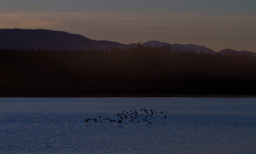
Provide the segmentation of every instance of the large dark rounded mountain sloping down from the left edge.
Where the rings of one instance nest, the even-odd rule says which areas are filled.
[[[78,34],[45,29],[0,29],[0,49],[10,50],[89,50],[120,48],[126,44],[110,41],[96,41]]]

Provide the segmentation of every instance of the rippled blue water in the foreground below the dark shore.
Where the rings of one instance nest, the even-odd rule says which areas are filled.
[[[0,153],[256,153],[256,98],[0,98],[0,120]]]

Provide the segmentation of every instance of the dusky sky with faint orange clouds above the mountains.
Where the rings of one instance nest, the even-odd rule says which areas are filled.
[[[256,0],[0,0],[0,29],[256,52]]]

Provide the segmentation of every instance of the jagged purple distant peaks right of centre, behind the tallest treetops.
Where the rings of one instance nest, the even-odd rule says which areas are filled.
[[[144,46],[149,45],[150,47],[153,47],[156,45],[160,47],[163,47],[163,46],[167,47],[168,44],[170,45],[172,52],[187,52],[188,50],[191,50],[191,51],[194,50],[197,54],[199,54],[200,52],[206,53],[206,54],[208,54],[209,52],[215,53],[215,51],[209,48],[206,48],[205,46],[198,46],[194,44],[177,44],[177,43],[170,44],[170,43],[160,42],[160,41],[148,41],[141,45],[144,45]]]

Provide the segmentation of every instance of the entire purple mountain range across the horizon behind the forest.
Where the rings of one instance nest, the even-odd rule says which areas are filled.
[[[45,30],[45,29],[0,29],[0,49],[7,50],[37,50],[38,48],[48,49],[48,50],[90,50],[92,48],[104,50],[108,48],[120,48],[125,49],[129,48],[132,45],[134,47],[137,46],[138,43],[131,44],[122,44],[118,42],[111,41],[96,41],[89,38],[86,38],[82,35],[78,34],[70,34],[63,31],[53,31],[53,30]],[[170,46],[172,52],[187,52],[188,50],[195,51],[197,54],[202,53],[216,53],[215,51],[205,47],[198,46],[194,44],[170,44],[166,42],[160,41],[148,41],[142,43],[147,47],[155,47],[156,45],[159,47]],[[225,54],[230,52],[235,52],[239,55],[242,54],[252,54],[252,56],[256,56],[256,53],[250,51],[235,51],[232,49],[224,49],[221,50],[221,54]]]

